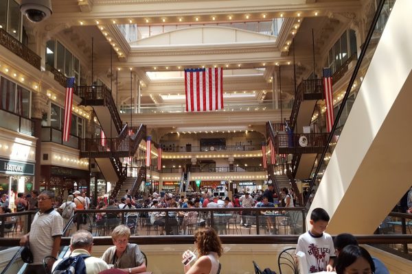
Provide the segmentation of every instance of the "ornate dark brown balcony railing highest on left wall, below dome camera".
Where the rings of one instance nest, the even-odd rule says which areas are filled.
[[[0,45],[5,47],[9,51],[12,51],[12,53],[20,56],[23,60],[25,60],[27,63],[31,64],[40,71],[41,57],[1,28]]]

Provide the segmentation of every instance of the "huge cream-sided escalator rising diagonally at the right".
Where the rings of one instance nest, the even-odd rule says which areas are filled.
[[[328,211],[331,234],[373,234],[411,185],[410,10],[412,1],[380,1],[335,119],[343,128],[334,124],[310,183],[310,209]]]

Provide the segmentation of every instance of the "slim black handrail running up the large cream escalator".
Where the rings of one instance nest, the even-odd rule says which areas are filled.
[[[378,7],[376,8],[374,19],[372,20],[371,27],[369,28],[369,32],[367,33],[367,36],[365,38],[365,42],[363,43],[363,47],[361,49],[361,54],[359,54],[358,62],[356,62],[356,66],[354,68],[354,73],[352,73],[352,77],[350,78],[349,84],[347,85],[345,95],[343,96],[342,103],[341,103],[341,108],[339,108],[338,113],[336,114],[336,118],[334,119],[335,123],[333,124],[332,129],[330,130],[330,134],[328,136],[328,140],[326,142],[325,149],[323,149],[323,152],[322,152],[320,161],[317,165],[316,171],[314,172],[312,180],[310,181],[310,186],[309,186],[308,193],[310,193],[312,191],[313,187],[314,187],[314,182],[317,179],[317,176],[318,176],[319,170],[321,169],[321,166],[323,164],[325,155],[329,150],[330,142],[332,141],[332,138],[334,136],[333,132],[336,130],[336,127],[338,126],[338,123],[336,123],[336,121],[339,121],[339,119],[341,119],[341,115],[343,113],[343,110],[345,109],[342,106],[346,104],[347,98],[350,95],[350,90],[352,89],[352,86],[355,82],[356,76],[358,75],[358,71],[359,71],[359,69],[361,69],[361,64],[363,62],[363,58],[365,57],[365,53],[367,51],[367,48],[369,47],[369,43],[370,43],[371,38],[374,34],[376,24],[378,23],[378,19],[380,17],[380,14],[382,13],[382,8],[383,8],[386,1],[388,1],[388,0],[380,0],[380,2],[378,4]],[[308,195],[308,197],[309,197],[309,195]],[[306,206],[306,204],[308,203],[308,197],[306,197],[306,199],[304,201],[304,206]]]

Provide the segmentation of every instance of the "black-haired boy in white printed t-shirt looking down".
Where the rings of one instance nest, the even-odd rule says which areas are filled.
[[[296,253],[305,253],[309,273],[333,271],[333,239],[330,234],[325,233],[329,220],[328,212],[323,208],[315,208],[310,214],[312,228],[297,240]]]

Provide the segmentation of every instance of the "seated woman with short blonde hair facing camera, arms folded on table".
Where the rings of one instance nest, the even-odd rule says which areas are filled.
[[[130,229],[126,225],[118,225],[111,234],[114,247],[104,251],[102,260],[113,264],[115,269],[124,273],[141,273],[146,271],[146,262],[137,244],[130,244]]]

